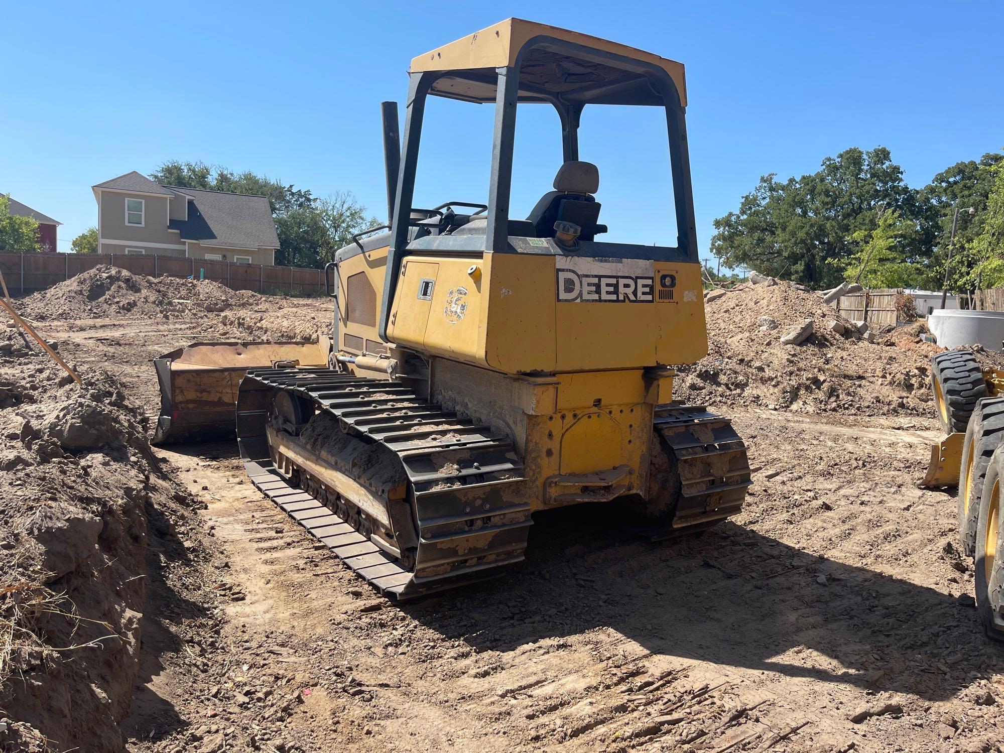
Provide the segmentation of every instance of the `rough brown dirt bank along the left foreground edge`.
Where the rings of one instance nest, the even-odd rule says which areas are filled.
[[[188,500],[118,382],[0,330],[0,750],[118,751],[148,519]],[[48,747],[46,747],[48,746]]]

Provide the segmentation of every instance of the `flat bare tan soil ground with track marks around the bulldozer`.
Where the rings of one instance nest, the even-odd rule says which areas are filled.
[[[288,303],[326,324],[325,301]],[[150,358],[227,326],[119,318],[44,331],[154,414]],[[709,357],[726,358],[712,336]],[[611,525],[612,506],[540,515],[525,563],[404,604],[244,482],[232,446],[156,450],[205,507],[173,510],[148,554],[127,748],[1001,750],[1004,653],[977,624],[955,498],[916,486],[939,435],[915,340],[775,352],[765,338],[753,359],[766,370],[741,365],[767,382],[754,378],[745,393],[759,397],[745,401],[715,400],[731,361],[702,362],[684,389],[718,369],[717,385],[688,395],[734,417],[759,469],[740,516],[653,544]],[[881,365],[852,379],[869,354]],[[831,366],[835,405],[811,382],[776,400],[775,362]]]

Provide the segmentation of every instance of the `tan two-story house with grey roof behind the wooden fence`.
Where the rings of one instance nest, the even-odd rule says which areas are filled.
[[[279,239],[264,196],[160,186],[136,171],[92,189],[98,253],[275,264]]]

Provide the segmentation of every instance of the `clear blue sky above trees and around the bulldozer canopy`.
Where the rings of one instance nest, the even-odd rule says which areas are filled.
[[[757,179],[884,145],[923,186],[1004,147],[999,2],[8,3],[0,25],[0,191],[96,222],[89,187],[169,159],[250,169],[386,210],[382,99],[412,57],[517,16],[687,66],[698,240]],[[652,110],[587,113],[610,240],[675,237],[665,127]],[[429,110],[417,204],[485,200],[491,107]],[[521,107],[513,216],[550,187],[557,118]]]

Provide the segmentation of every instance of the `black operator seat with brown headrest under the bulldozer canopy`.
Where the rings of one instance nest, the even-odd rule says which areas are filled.
[[[554,191],[544,194],[526,219],[533,223],[537,238],[553,238],[554,223],[572,222],[582,232],[579,239],[591,241],[597,233],[605,233],[605,225],[597,225],[599,202],[592,194],[599,189],[599,170],[589,162],[566,162],[554,176]]]

